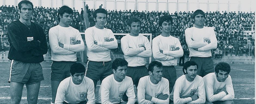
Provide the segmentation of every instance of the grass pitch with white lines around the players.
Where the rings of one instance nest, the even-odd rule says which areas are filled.
[[[38,104],[50,104],[51,102],[51,85],[50,72],[51,63],[41,63],[43,68],[44,80],[38,95]],[[85,65],[85,63],[84,63]],[[231,78],[233,82],[236,104],[254,104],[255,103],[255,71],[254,65],[249,64],[231,64]],[[177,76],[183,74],[182,67],[176,66]],[[10,63],[0,63],[0,104],[10,103],[10,83],[8,83]],[[100,85],[100,83],[98,83]],[[96,87],[97,95],[99,86]],[[21,104],[27,104],[26,87],[23,88]]]

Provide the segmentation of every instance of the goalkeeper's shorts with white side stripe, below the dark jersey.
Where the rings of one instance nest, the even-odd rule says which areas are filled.
[[[8,82],[20,82],[33,84],[44,80],[43,70],[40,63],[24,63],[12,60]]]

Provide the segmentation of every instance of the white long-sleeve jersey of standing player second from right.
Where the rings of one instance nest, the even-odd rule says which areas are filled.
[[[177,47],[179,47],[179,50],[173,51]],[[156,61],[161,62],[163,66],[176,66],[177,59],[184,54],[179,39],[171,35],[168,37],[162,35],[156,36],[152,40],[152,53]]]

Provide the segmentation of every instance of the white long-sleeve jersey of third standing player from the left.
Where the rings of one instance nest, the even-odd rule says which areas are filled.
[[[117,39],[111,29],[99,29],[93,26],[87,28],[84,35],[88,60],[96,62],[111,61],[109,49],[116,49],[118,46]],[[107,42],[111,38],[114,41]],[[94,42],[97,42],[97,45]]]

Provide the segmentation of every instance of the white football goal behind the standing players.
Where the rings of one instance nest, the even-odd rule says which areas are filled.
[[[83,40],[85,40],[84,32],[80,32],[80,34],[81,34]],[[114,33],[114,36],[115,36],[115,38],[117,39],[117,42],[118,42],[118,47],[117,47],[117,49],[111,49],[110,50],[111,59],[114,60],[116,58],[123,58],[124,54],[123,54],[123,51],[121,50],[120,40],[125,35],[129,35],[129,33]],[[152,33],[139,33],[139,35],[146,36],[148,38],[149,42],[150,42],[150,45],[152,46]],[[85,49],[84,52],[81,52],[80,57],[81,57],[81,61],[84,62],[84,58],[87,58],[86,49]],[[147,58],[147,65],[151,62],[151,59],[152,59],[151,57]]]

